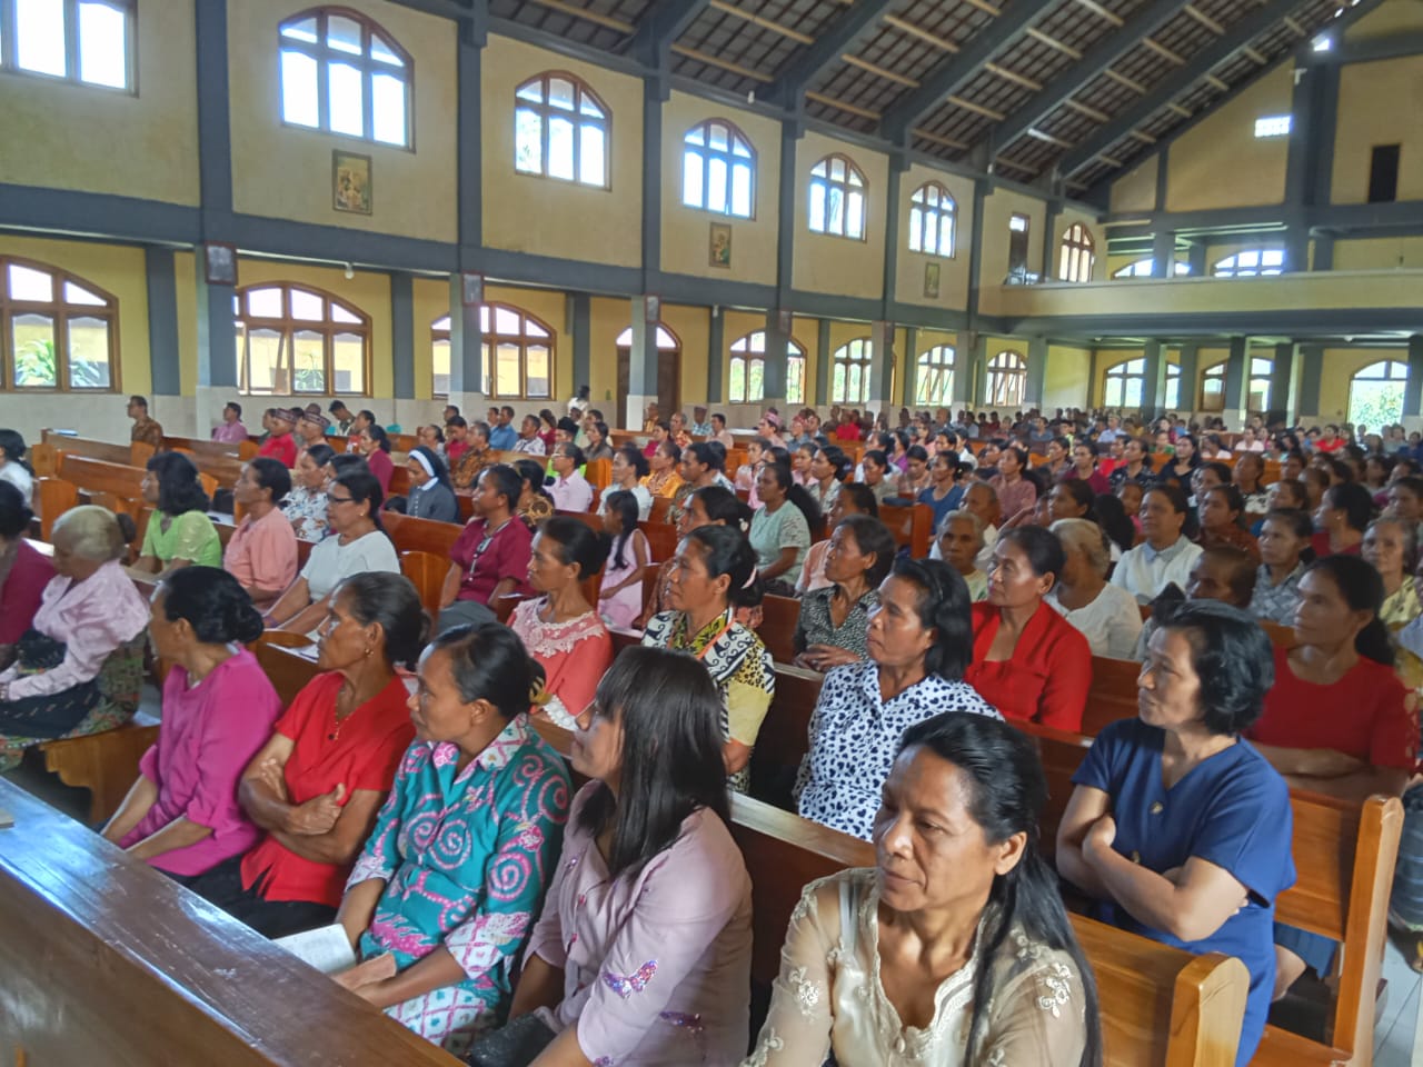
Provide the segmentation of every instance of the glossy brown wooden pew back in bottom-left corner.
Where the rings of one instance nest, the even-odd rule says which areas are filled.
[[[0,808],[6,1064],[458,1063],[17,785]]]

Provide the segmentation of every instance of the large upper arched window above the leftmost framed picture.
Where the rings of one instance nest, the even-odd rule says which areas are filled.
[[[282,121],[411,148],[414,63],[349,7],[314,7],[277,28]]]

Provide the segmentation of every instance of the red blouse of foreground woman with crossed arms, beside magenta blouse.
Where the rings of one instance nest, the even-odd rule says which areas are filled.
[[[342,681],[336,671],[317,674],[276,721],[276,733],[296,743],[282,768],[292,804],[305,804],[339,784],[346,787],[347,802],[357,790],[384,797],[396,781],[400,757],[416,740],[404,681],[391,679],[337,726],[336,694]],[[339,908],[349,874],[346,865],[303,859],[270,834],[242,856],[242,888],[250,889],[260,881],[266,901],[310,901]]]

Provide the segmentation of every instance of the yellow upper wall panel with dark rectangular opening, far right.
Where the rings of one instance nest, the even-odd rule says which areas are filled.
[[[1366,203],[1375,145],[1402,145],[1399,199],[1423,198],[1423,125],[1416,102],[1423,94],[1423,55],[1352,63],[1339,73],[1339,125],[1335,131],[1335,203]]]

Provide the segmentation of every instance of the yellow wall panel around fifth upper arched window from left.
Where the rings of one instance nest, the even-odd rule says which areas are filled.
[[[831,152],[848,156],[865,175],[865,240],[810,230],[810,171]],[[879,152],[814,132],[795,142],[795,255],[791,276],[797,289],[871,299],[884,293],[888,188],[889,159]]]

